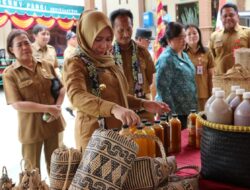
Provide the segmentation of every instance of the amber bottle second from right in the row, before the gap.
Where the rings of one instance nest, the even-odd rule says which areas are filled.
[[[168,123],[168,116],[162,115],[160,125],[164,128],[164,149],[168,154],[170,153],[170,125]]]

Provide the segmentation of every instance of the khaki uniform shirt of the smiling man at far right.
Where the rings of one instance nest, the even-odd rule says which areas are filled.
[[[209,49],[214,57],[215,74],[226,73],[234,65],[234,50],[241,47],[250,47],[249,28],[236,25],[233,33],[222,29],[211,35]]]

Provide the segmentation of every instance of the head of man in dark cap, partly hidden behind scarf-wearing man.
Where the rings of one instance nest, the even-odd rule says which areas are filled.
[[[135,40],[137,44],[148,49],[151,40],[154,40],[152,37],[152,31],[146,28],[137,28],[135,33]]]

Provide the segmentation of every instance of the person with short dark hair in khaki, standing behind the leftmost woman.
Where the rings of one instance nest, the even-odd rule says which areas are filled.
[[[46,26],[37,24],[32,30],[35,42],[32,44],[33,56],[39,61],[50,63],[56,74],[60,77],[59,64],[57,61],[56,50],[49,45],[50,32]]]

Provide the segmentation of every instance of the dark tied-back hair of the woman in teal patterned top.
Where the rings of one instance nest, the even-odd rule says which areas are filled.
[[[178,37],[183,29],[184,27],[181,23],[169,22],[168,25],[166,26],[166,31],[164,33],[164,36],[160,39],[161,46],[166,47],[168,45],[167,41]]]

